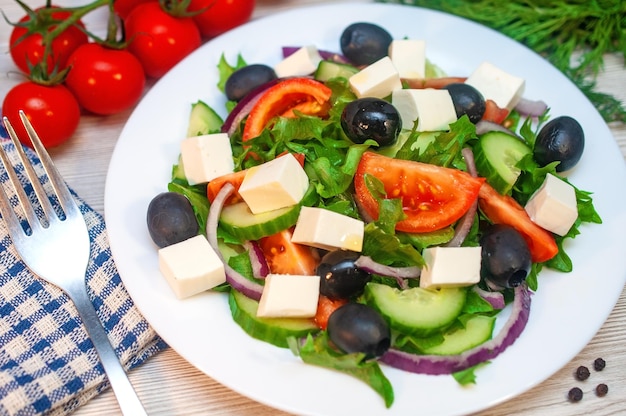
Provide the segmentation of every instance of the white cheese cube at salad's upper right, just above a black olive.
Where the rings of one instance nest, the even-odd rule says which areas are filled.
[[[465,80],[485,98],[501,108],[512,110],[524,94],[523,78],[509,74],[492,63],[483,62]]]

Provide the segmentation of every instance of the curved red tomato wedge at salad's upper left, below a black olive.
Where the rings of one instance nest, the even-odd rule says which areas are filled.
[[[294,117],[294,109],[307,115],[326,115],[331,94],[330,88],[311,78],[287,78],[279,82],[268,88],[250,110],[242,140],[259,136],[274,117]]]

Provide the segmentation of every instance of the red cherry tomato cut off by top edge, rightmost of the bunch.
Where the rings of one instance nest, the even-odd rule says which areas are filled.
[[[202,36],[213,38],[250,20],[255,0],[191,0],[187,10],[204,12],[193,17]]]

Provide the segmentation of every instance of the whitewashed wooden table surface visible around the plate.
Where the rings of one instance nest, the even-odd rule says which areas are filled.
[[[332,1],[313,0],[257,0],[253,18],[312,3]],[[29,0],[31,6],[44,2]],[[62,5],[84,4],[81,0],[55,2]],[[13,0],[0,0],[0,9],[12,20],[17,20],[21,9]],[[88,24],[102,27],[103,16],[98,12],[88,16]],[[22,81],[7,52],[10,27],[0,20],[0,97],[12,85]],[[605,67],[598,78],[598,87],[626,102],[626,69],[623,58],[606,56]],[[111,153],[128,119],[130,111],[109,117],[84,115],[74,137],[65,145],[51,151],[59,170],[70,186],[95,210],[104,210],[104,184]],[[626,126],[609,126],[626,158]],[[618,192],[626,190],[619,184]],[[625,230],[626,231],[626,230]],[[626,253],[625,253],[626,254]],[[578,403],[567,400],[575,382],[573,372],[579,365],[590,366],[602,357],[607,367],[601,377],[584,384],[585,398]],[[514,377],[514,375],[511,375]],[[169,349],[149,359],[130,373],[132,383],[151,415],[223,414],[223,415],[278,415],[280,411],[252,401],[220,385],[201,373],[175,351]],[[593,394],[595,385],[604,382],[609,393],[603,398]],[[481,415],[618,415],[626,414],[626,291],[612,314],[591,342],[548,380],[521,396],[483,411]],[[119,414],[111,391],[93,399],[76,412],[77,415]]]

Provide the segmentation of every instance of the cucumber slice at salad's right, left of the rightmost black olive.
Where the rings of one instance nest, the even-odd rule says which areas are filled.
[[[499,131],[485,133],[474,146],[478,174],[501,194],[510,193],[520,175],[517,163],[532,149],[521,139]]]

